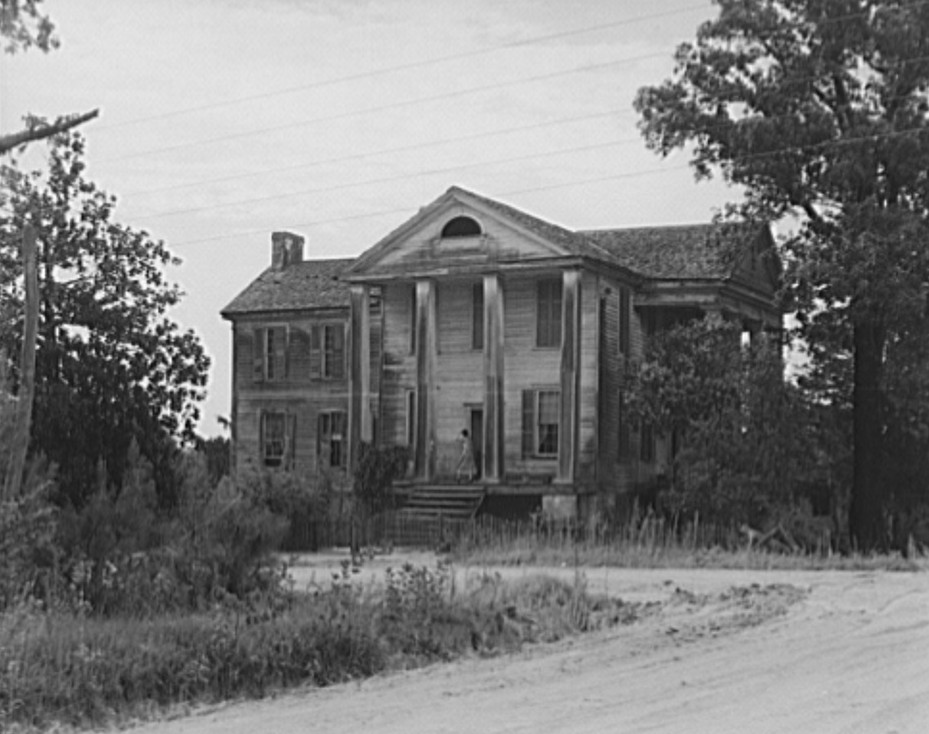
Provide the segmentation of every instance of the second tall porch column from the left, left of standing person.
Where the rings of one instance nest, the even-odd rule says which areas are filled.
[[[416,446],[417,479],[430,480],[435,473],[435,283],[416,281]]]

